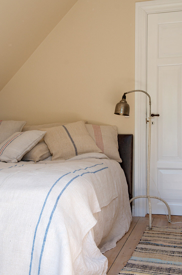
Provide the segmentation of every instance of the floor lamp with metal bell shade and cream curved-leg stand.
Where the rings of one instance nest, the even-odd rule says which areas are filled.
[[[158,199],[164,202],[166,204],[167,209],[168,209],[168,215],[169,215],[169,221],[171,221],[171,213],[170,213],[170,208],[167,202],[159,197],[156,196],[150,196],[149,194],[149,187],[150,187],[150,146],[151,146],[151,119],[153,116],[159,116],[159,115],[154,115],[151,114],[151,99],[150,95],[147,94],[147,92],[142,91],[142,90],[133,90],[129,91],[127,93],[124,93],[122,100],[116,104],[115,112],[114,114],[116,115],[122,115],[122,116],[129,116],[130,112],[130,106],[128,105],[126,101],[126,94],[132,93],[132,92],[143,92],[149,97],[149,106],[150,106],[150,114],[149,114],[149,120],[146,119],[146,122],[149,122],[149,142],[148,142],[148,160],[147,160],[147,195],[141,195],[141,196],[136,196],[133,197],[130,202],[132,202],[135,199],[138,198],[147,198],[149,202],[149,229],[152,229],[152,205],[151,205],[151,198],[152,199]]]

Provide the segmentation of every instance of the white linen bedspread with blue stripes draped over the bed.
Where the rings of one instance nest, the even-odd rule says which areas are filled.
[[[106,274],[131,211],[120,165],[97,157],[0,162],[0,274]]]

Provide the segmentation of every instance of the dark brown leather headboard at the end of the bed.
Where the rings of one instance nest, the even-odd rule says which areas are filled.
[[[118,134],[118,147],[119,155],[122,159],[120,163],[121,168],[124,170],[129,198],[132,198],[132,171],[133,171],[133,135]]]

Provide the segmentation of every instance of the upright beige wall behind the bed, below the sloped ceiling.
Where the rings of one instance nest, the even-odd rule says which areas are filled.
[[[88,120],[134,133],[114,115],[134,89],[135,0],[79,0],[1,91],[0,119],[27,124]]]

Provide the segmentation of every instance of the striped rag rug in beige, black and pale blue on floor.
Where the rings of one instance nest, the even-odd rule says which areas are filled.
[[[182,274],[182,227],[147,226],[119,274]]]

